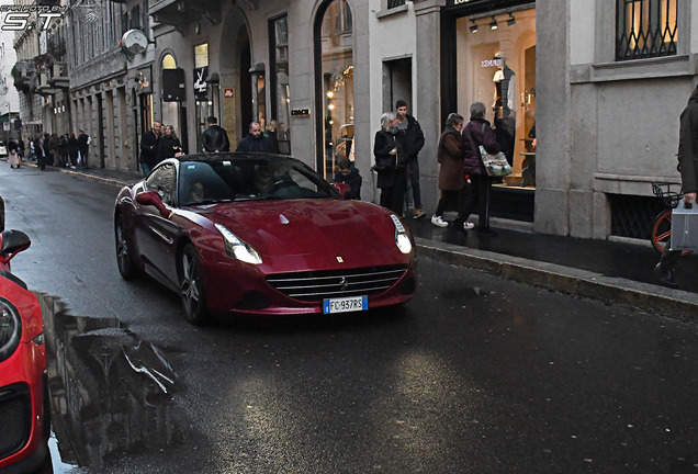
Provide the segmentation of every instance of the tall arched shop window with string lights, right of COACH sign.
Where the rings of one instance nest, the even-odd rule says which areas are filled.
[[[331,179],[338,159],[353,160],[353,22],[346,0],[328,2],[322,14],[316,32],[316,55],[320,63],[318,90],[323,91],[318,101],[323,144],[318,170]]]

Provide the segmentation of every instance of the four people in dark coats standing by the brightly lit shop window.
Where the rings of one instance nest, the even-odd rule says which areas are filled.
[[[492,180],[487,177],[480,156],[480,146],[491,154],[500,151],[489,122],[485,120],[485,105],[474,102],[470,108],[470,122],[465,125],[462,115],[452,113],[446,121],[446,127],[439,139],[437,158],[439,189],[441,198],[431,223],[437,227],[448,227],[443,212],[458,207],[461,193],[464,200],[458,210],[453,225],[469,230],[475,225],[468,221],[477,210],[479,232],[492,234],[488,222],[488,200]],[[398,100],[395,112],[385,112],[381,116],[381,129],[375,134],[373,169],[378,172],[378,187],[381,189],[380,203],[398,215],[404,214],[407,184],[412,185],[415,212],[414,218],[425,215],[419,189],[418,154],[425,143],[419,123],[407,114],[407,103]]]

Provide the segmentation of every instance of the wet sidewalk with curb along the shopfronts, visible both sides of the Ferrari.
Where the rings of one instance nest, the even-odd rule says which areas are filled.
[[[30,166],[35,166],[30,163]],[[143,178],[138,172],[108,169],[47,167],[123,185]],[[603,301],[637,307],[662,316],[698,320],[698,256],[682,258],[676,271],[680,290],[657,283],[653,269],[660,255],[644,242],[592,240],[497,228],[507,225],[493,221],[496,235],[482,236],[451,227],[431,225],[429,216],[408,225],[421,258],[475,268],[503,278]],[[515,224],[515,223],[511,223]]]

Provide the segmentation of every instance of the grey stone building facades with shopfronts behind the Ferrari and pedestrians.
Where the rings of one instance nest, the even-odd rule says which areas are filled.
[[[327,179],[337,159],[354,160],[362,198],[378,202],[373,136],[404,99],[426,136],[427,212],[444,120],[475,101],[514,169],[493,188],[504,225],[646,238],[661,206],[651,183],[678,182],[698,0],[149,0],[104,2],[99,27],[78,3],[72,121],[97,139],[100,166],[137,169],[154,120],[190,153],[209,115],[234,147],[251,121],[274,121],[282,150]],[[148,43],[126,54],[119,40],[133,29]]]

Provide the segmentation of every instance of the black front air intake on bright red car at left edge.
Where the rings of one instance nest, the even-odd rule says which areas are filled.
[[[20,451],[32,429],[32,405],[29,387],[13,384],[0,388],[0,459]]]

